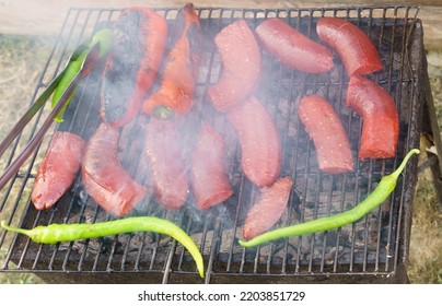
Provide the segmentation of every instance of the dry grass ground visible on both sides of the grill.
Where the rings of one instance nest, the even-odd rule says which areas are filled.
[[[46,38],[0,35],[0,139],[28,107],[40,71],[50,52],[51,42]],[[441,56],[442,60],[442,56]],[[437,114],[442,127],[442,64],[431,67],[431,85]],[[4,107],[10,106],[10,107]],[[424,155],[424,154],[421,154]],[[0,164],[1,169],[3,165]],[[28,191],[26,191],[28,192]],[[9,205],[0,212],[0,220],[10,215]],[[5,250],[0,249],[0,268]],[[11,267],[13,268],[13,267]],[[429,169],[419,174],[414,201],[414,224],[409,250],[409,280],[411,283],[442,283],[442,210],[438,208]],[[43,283],[32,273],[0,273],[1,283]]]

